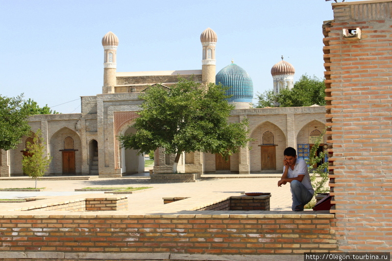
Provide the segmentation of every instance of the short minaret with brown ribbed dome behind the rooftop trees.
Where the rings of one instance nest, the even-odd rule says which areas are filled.
[[[290,63],[282,61],[275,64],[271,68],[271,74],[273,78],[273,92],[279,93],[282,88],[293,88],[294,87],[294,66]]]

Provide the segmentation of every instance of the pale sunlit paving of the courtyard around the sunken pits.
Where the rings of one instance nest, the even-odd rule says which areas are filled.
[[[205,174],[203,180],[194,183],[154,184],[148,174],[125,176],[122,178],[99,178],[98,176],[78,176],[86,180],[44,180],[38,181],[42,192],[0,192],[1,199],[50,198],[61,196],[62,200],[82,194],[102,194],[103,192],[75,192],[86,187],[152,187],[144,192],[128,195],[128,211],[131,214],[175,213],[192,210],[193,206],[214,203],[227,196],[240,196],[242,192],[270,192],[270,211],[291,211],[291,193],[288,185],[277,187],[280,174]],[[64,178],[64,177],[63,177]],[[70,178],[75,178],[72,176]],[[87,180],[88,178],[88,180]],[[34,187],[30,177],[0,178],[0,189]],[[109,194],[110,195],[110,194]],[[163,197],[189,197],[170,204],[163,204]],[[3,207],[7,208],[2,203]],[[13,203],[15,204],[15,203]],[[18,204],[18,203],[16,203]]]

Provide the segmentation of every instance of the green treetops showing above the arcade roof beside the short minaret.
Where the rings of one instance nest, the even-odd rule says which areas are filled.
[[[324,106],[326,104],[324,80],[316,76],[309,77],[306,74],[295,82],[292,89],[282,88],[278,94],[272,90],[266,90],[257,96],[259,100],[256,108],[302,107],[315,104]]]

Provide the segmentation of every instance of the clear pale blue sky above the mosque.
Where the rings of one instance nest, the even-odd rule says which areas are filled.
[[[281,55],[323,78],[325,0],[0,0],[0,94],[79,113],[80,96],[102,92],[102,37],[119,38],[117,71],[201,69],[200,34],[218,35],[217,72],[234,63],[254,92],[272,88]],[[71,102],[72,101],[72,102]],[[63,105],[60,105],[63,104]]]

